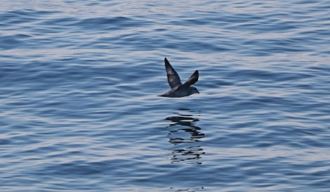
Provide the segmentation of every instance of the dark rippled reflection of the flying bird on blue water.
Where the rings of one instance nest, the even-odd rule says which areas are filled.
[[[180,109],[189,111],[191,110]],[[201,128],[196,126],[199,121],[197,117],[187,114],[176,113],[175,116],[166,117],[171,123],[169,129],[169,143],[173,144],[173,150],[169,153],[171,155],[171,162],[187,162],[187,164],[202,164],[200,158],[204,154],[200,142],[204,137]]]

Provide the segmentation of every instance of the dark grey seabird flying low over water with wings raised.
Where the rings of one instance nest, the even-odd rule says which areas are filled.
[[[167,58],[165,58],[164,60],[165,60],[167,81],[169,82],[171,90],[159,96],[184,97],[184,96],[190,96],[192,94],[199,94],[199,91],[196,89],[196,87],[190,86],[198,81],[198,76],[199,76],[198,70],[195,70],[192,76],[190,76],[189,79],[187,79],[187,81],[184,84],[182,84],[178,73],[171,66],[169,60],[167,60]]]

